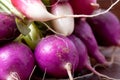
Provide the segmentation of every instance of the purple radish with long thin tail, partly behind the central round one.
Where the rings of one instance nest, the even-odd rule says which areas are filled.
[[[82,40],[80,40],[80,38],[76,37],[75,35],[70,35],[70,36],[68,36],[68,38],[73,41],[73,43],[75,44],[75,46],[77,48],[78,54],[79,54],[79,65],[76,70],[77,72],[80,72],[83,68],[86,68],[98,76],[112,79],[106,75],[103,75],[103,74],[97,72],[94,68],[92,68],[91,63],[89,61],[87,48],[84,45],[84,43],[82,42]]]

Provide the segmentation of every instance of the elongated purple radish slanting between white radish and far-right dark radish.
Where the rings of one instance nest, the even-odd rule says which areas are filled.
[[[77,20],[74,34],[84,42],[91,57],[95,58],[99,63],[106,63],[105,57],[99,51],[92,29],[85,20]]]

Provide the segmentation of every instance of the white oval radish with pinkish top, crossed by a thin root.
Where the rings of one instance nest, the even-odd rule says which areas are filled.
[[[56,4],[54,7],[52,7],[51,12],[56,16],[62,16],[67,14],[73,15],[72,8],[67,2]],[[53,29],[64,36],[68,36],[73,33],[74,18],[60,18],[57,20],[53,20],[52,24]]]

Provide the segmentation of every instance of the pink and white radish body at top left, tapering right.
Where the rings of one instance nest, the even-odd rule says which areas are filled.
[[[41,0],[11,0],[13,6],[27,18],[35,21],[48,21],[56,18],[47,11]]]

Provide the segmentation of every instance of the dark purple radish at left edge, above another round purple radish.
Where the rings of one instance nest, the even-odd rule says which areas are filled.
[[[0,43],[15,39],[19,35],[15,17],[7,13],[0,13]]]

